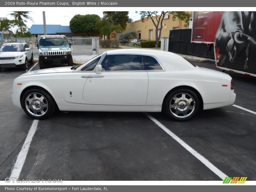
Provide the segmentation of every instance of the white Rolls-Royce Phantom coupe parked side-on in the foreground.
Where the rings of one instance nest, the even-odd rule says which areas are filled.
[[[13,104],[35,119],[60,111],[161,112],[188,120],[200,109],[232,105],[232,78],[177,54],[104,52],[81,66],[30,71],[14,80]]]

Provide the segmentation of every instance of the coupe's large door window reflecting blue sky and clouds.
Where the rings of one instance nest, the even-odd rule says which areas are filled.
[[[102,62],[106,71],[144,70],[143,55],[107,55]]]

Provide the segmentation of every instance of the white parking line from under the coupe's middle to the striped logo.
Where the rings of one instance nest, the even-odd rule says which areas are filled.
[[[220,171],[217,167],[215,167],[209,160],[207,160],[204,156],[202,156],[200,153],[198,153],[195,149],[191,148],[187,143],[185,143],[183,140],[181,140],[177,135],[175,135],[173,132],[171,132],[169,129],[167,129],[163,124],[161,124],[159,121],[157,121],[153,116],[149,115],[148,113],[144,113],[146,116],[148,116],[149,119],[151,119],[153,122],[155,122],[159,127],[161,127],[167,134],[169,134],[174,140],[176,140],[180,145],[182,145],[185,149],[187,149],[193,156],[195,156],[199,161],[201,161],[206,167],[208,167],[212,172],[214,172],[216,175],[218,175],[222,180],[224,180],[226,177],[228,177],[225,173]]]

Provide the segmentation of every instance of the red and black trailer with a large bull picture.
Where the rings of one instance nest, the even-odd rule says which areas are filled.
[[[256,76],[256,12],[193,12],[191,43],[212,44],[217,68]]]

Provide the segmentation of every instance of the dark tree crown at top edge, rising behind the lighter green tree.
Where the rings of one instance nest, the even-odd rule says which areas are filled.
[[[109,20],[113,25],[120,25],[125,29],[129,22],[129,11],[104,11],[104,19]]]

